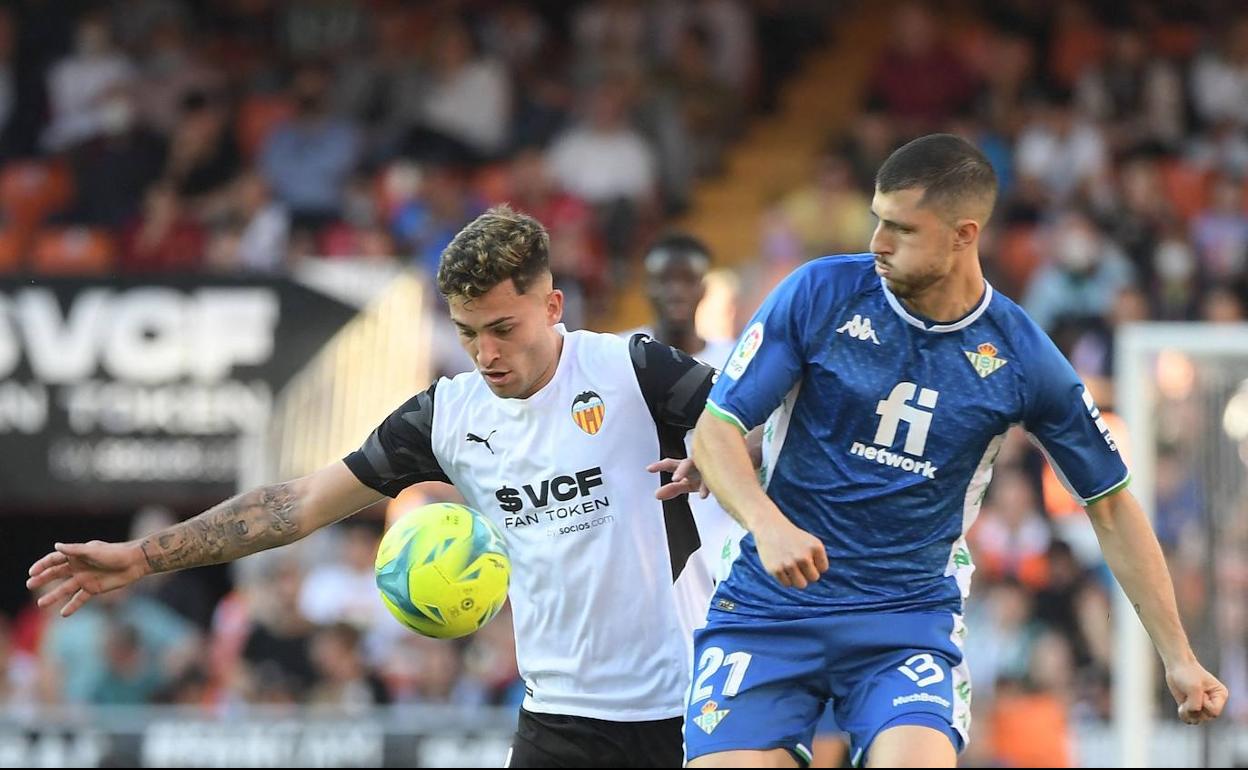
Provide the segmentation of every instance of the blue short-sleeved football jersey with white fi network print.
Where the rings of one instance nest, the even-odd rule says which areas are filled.
[[[965,534],[1016,423],[1085,504],[1128,478],[1073,368],[1017,305],[985,283],[966,317],[925,319],[871,255],[815,260],[776,287],[706,408],[741,431],[766,422],[768,495],[830,563],[785,588],[746,535],[713,612],[961,612]]]

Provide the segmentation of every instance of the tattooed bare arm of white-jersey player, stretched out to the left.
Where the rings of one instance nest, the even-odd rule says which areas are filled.
[[[232,562],[293,543],[381,497],[337,462],[292,482],[245,492],[142,540],[57,543],[30,567],[26,588],[64,579],[40,597],[39,605],[64,604],[61,615],[69,616],[91,597],[151,573]]]

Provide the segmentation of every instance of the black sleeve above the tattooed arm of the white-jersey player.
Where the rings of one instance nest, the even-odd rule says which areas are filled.
[[[433,454],[433,389],[437,384],[394,409],[364,446],[342,459],[366,487],[394,497],[419,482],[451,482]]]

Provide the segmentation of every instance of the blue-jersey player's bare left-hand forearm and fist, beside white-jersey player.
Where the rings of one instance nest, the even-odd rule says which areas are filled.
[[[745,436],[735,424],[703,412],[694,431],[694,457],[719,504],[754,533],[763,567],[781,585],[806,588],[827,570],[819,538],[794,525],[763,492]]]

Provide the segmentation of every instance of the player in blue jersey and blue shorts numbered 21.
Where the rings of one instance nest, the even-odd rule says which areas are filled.
[[[694,636],[689,766],[810,760],[822,704],[855,764],[955,766],[971,681],[965,535],[1021,424],[1087,507],[1187,721],[1226,688],[1192,654],[1104,421],[1052,341],[983,280],[983,155],[921,137],[881,166],[871,252],[815,260],[746,326],[696,429],[750,533]],[[744,436],[764,426],[761,484]]]

